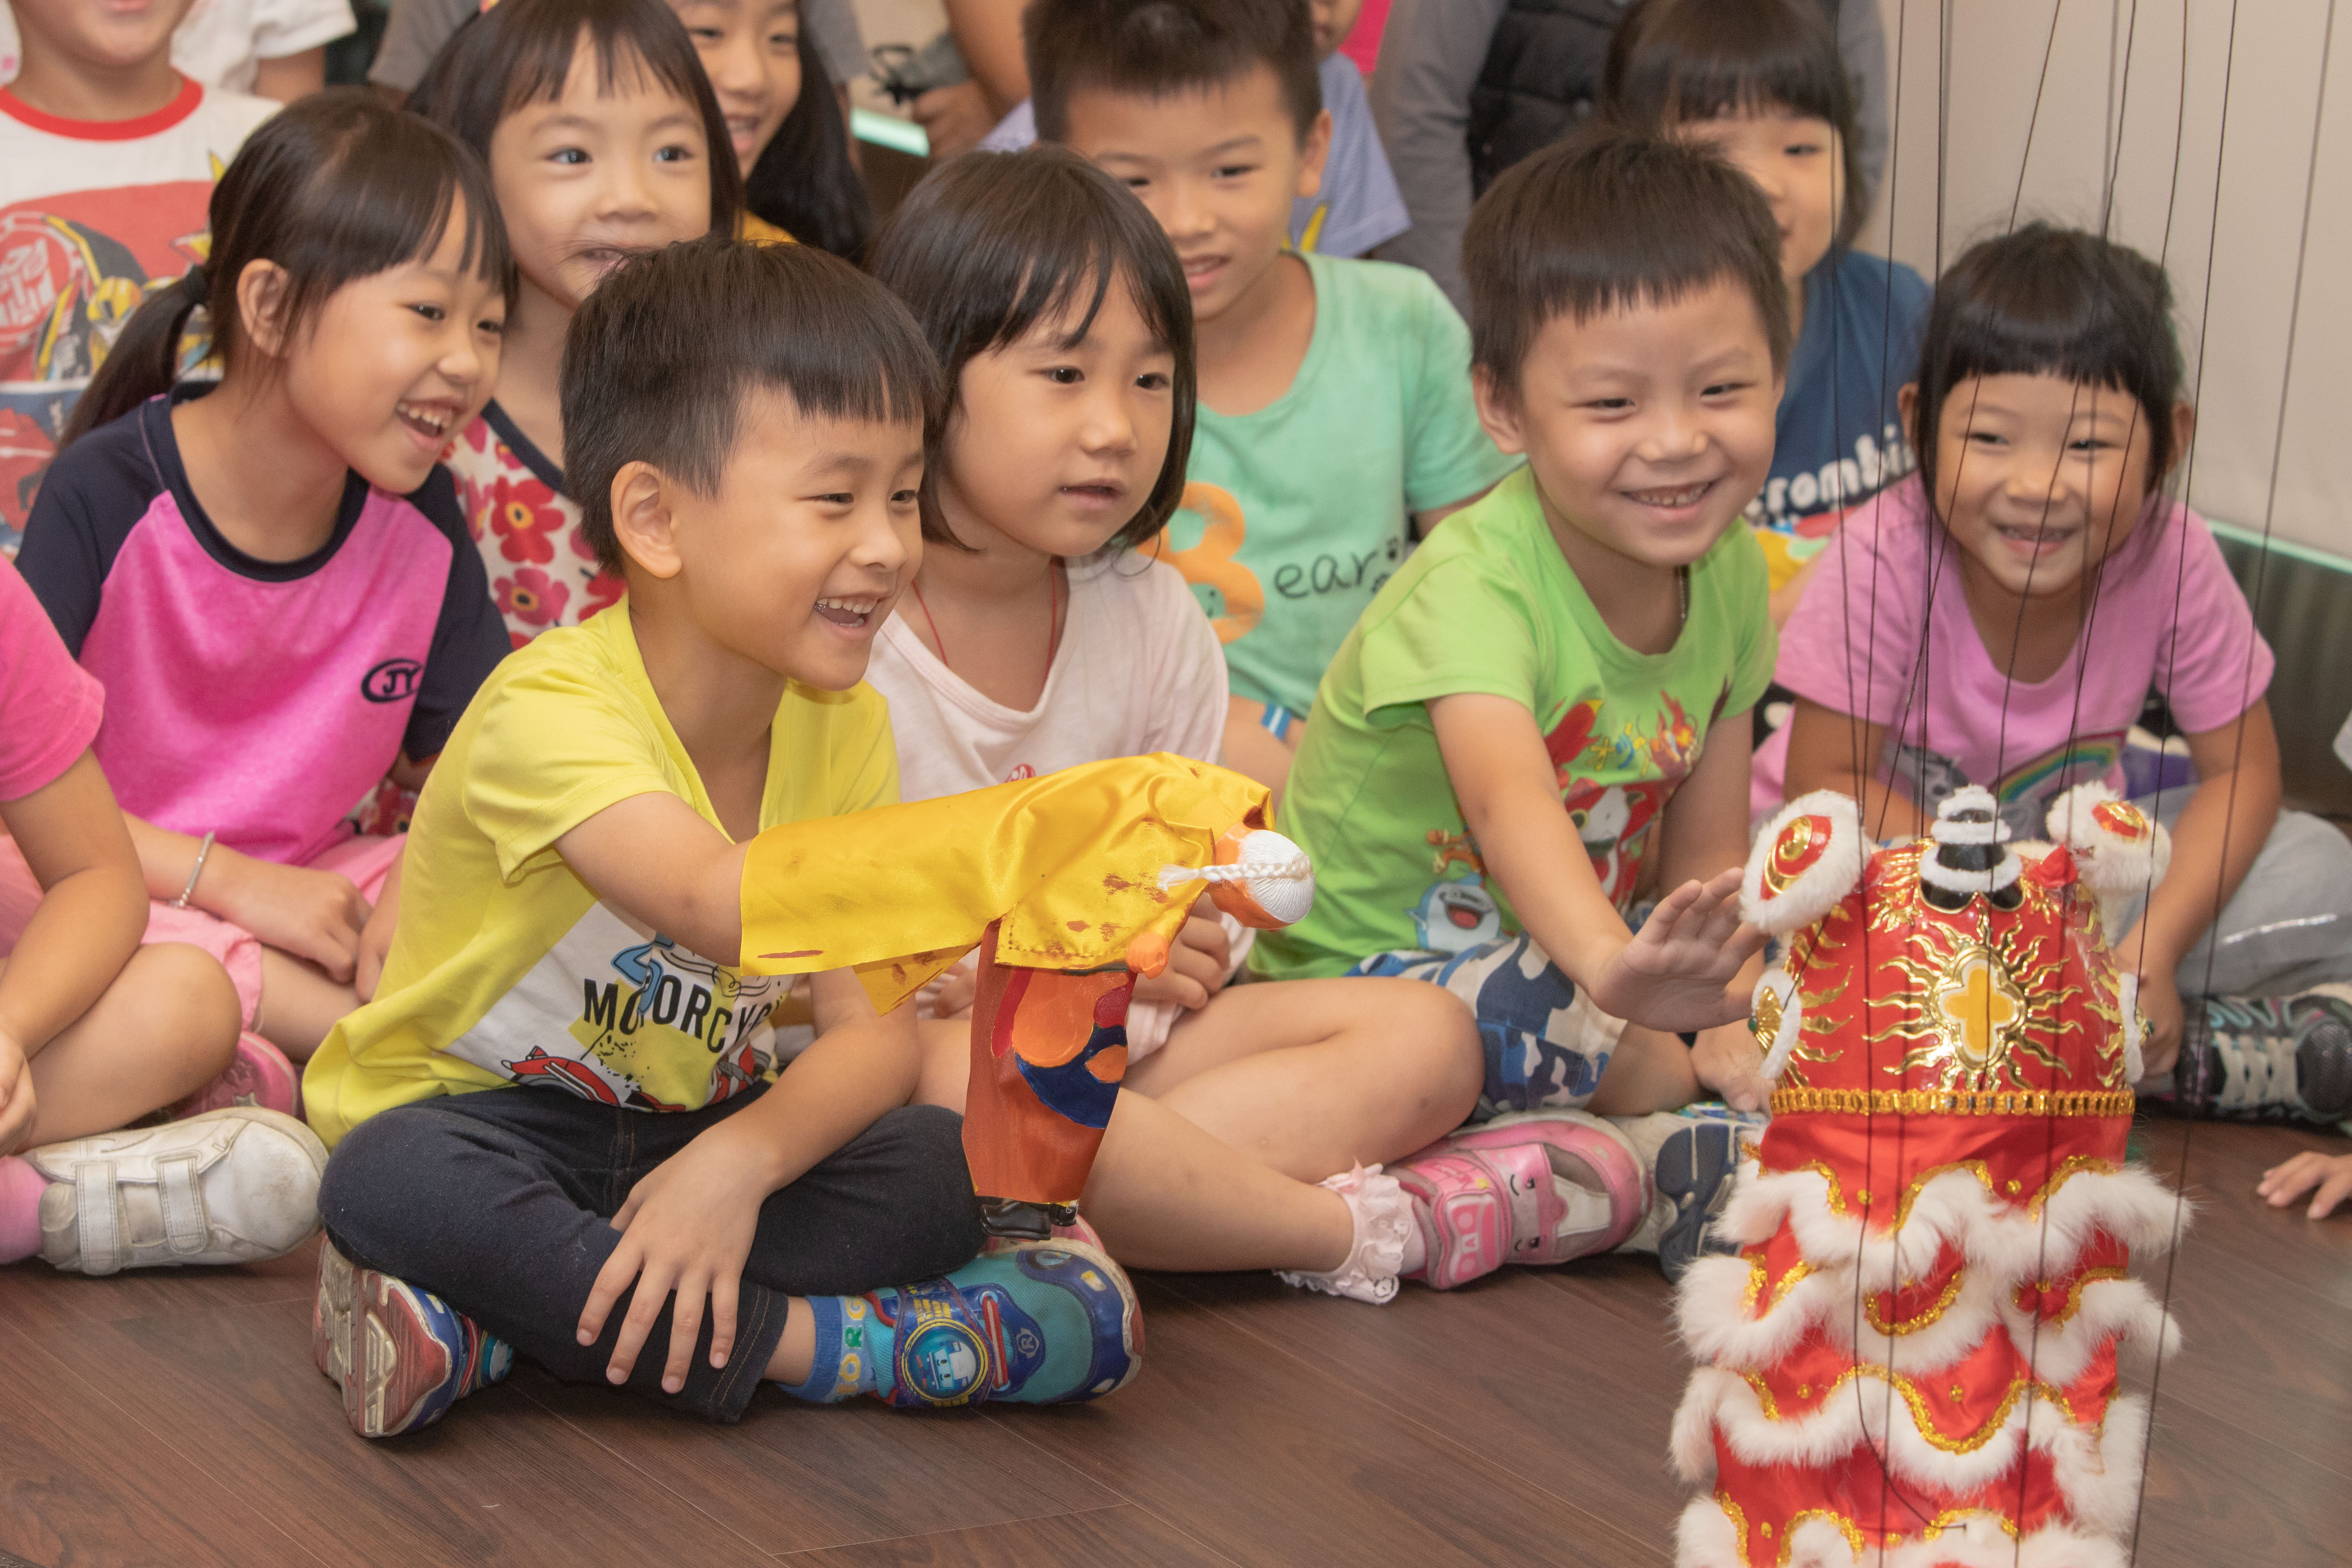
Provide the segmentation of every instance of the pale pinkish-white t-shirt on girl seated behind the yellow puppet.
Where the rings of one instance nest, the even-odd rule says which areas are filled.
[[[901,611],[922,616],[913,595]],[[882,623],[866,668],[866,682],[889,698],[901,799],[985,790],[1105,757],[1218,757],[1225,654],[1190,585],[1164,562],[1131,552],[1070,562],[1061,646],[1028,712],[983,696],[938,663],[906,614]],[[1223,919],[1240,966],[1251,933]],[[1167,1044],[1181,1011],[1171,1001],[1134,1004],[1129,1060]]]

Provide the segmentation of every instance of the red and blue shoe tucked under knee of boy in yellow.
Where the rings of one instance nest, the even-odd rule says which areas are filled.
[[[360,1436],[430,1427],[515,1366],[506,1340],[430,1291],[353,1265],[334,1241],[318,1248],[310,1356],[343,1389]]]

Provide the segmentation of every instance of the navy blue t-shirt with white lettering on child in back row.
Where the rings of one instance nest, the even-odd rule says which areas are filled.
[[[1926,301],[1926,280],[1886,256],[1832,252],[1804,275],[1804,329],[1788,355],[1771,477],[1748,503],[1773,588],[1853,508],[1919,465],[1896,393],[1919,376]]]

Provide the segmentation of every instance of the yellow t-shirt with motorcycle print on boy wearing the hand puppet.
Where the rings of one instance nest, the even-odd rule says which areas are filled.
[[[652,792],[717,825],[626,602],[536,637],[482,682],[416,802],[376,999],[303,1072],[322,1140],[395,1105],[508,1084],[699,1110],[774,1067],[769,1013],[790,978],[670,943],[600,903],[555,853],[597,811]],[[873,686],[788,686],[760,827],[896,799],[898,752]]]

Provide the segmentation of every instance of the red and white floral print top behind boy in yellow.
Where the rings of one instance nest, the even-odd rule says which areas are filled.
[[[520,649],[550,625],[579,625],[621,599],[621,578],[597,571],[581,538],[581,508],[564,473],[496,402],[442,451],[456,475],[466,529],[482,550],[489,592]]]

